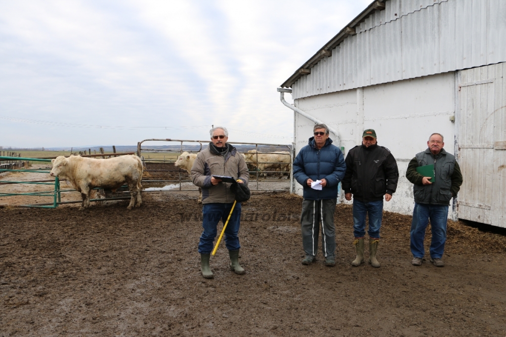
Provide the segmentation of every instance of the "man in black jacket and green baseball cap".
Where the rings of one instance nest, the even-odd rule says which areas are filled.
[[[389,149],[377,145],[376,132],[372,129],[364,131],[362,144],[348,152],[345,162],[343,189],[346,200],[351,200],[353,195],[353,244],[357,250],[352,266],[364,262],[365,217],[368,214],[369,263],[379,267],[376,251],[383,218],[383,196],[390,201],[397,189],[397,162]]]

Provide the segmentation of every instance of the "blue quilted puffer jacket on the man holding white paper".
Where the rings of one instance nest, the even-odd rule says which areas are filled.
[[[345,158],[341,150],[327,139],[325,145],[318,150],[314,137],[309,145],[304,146],[293,161],[293,178],[304,187],[304,199],[333,199],[338,196],[339,182],[346,172]],[[306,182],[325,178],[327,185],[321,191],[312,189]]]

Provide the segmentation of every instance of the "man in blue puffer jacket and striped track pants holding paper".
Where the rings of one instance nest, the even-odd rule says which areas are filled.
[[[332,145],[325,124],[315,124],[314,137],[301,149],[293,161],[293,178],[304,187],[302,201],[302,245],[306,257],[303,265],[316,259],[318,234],[321,222],[322,252],[325,265],[335,265],[335,227],[334,210],[338,197],[338,185],[346,172],[346,164],[341,150]],[[311,183],[320,181],[318,186]],[[316,188],[315,188],[316,187]]]

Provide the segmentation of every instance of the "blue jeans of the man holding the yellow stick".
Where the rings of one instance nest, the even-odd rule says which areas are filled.
[[[210,254],[213,250],[213,241],[216,238],[217,226],[220,220],[225,225],[227,222],[230,209],[233,203],[206,203],[202,207],[202,227],[204,231],[200,235],[200,242],[198,243],[198,252],[200,254]],[[228,221],[227,228],[225,229],[225,244],[228,250],[239,250],[239,224],[241,221],[241,204],[237,202],[234,207],[234,212]]]

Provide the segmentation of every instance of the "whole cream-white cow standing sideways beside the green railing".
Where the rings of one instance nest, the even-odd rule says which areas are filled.
[[[115,191],[123,183],[128,184],[131,193],[128,209],[141,205],[142,162],[135,155],[125,155],[109,159],[95,159],[81,156],[65,158],[59,156],[51,160],[51,176],[68,180],[81,192],[81,208],[90,206],[90,191],[96,187]],[[137,201],[137,203],[136,203]]]

